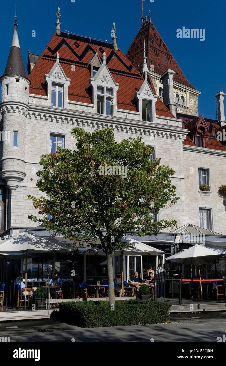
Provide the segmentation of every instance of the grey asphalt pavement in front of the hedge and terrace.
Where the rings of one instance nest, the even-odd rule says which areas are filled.
[[[105,328],[78,328],[57,319],[8,321],[0,324],[3,336],[16,343],[216,342],[226,339],[226,312],[173,313],[167,324]]]

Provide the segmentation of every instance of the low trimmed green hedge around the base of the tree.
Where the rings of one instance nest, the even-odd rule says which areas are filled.
[[[62,302],[59,316],[81,328],[165,323],[171,304],[150,300],[117,300],[111,311],[107,301]]]

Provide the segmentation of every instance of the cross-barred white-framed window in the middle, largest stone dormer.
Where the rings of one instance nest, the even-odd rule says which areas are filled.
[[[97,113],[113,116],[113,89],[97,86]]]

